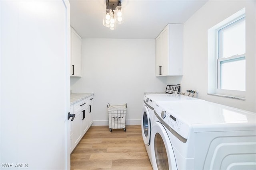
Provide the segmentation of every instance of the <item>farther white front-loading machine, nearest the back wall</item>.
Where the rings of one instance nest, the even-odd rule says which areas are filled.
[[[180,94],[146,94],[144,96],[144,105],[142,107],[142,117],[141,117],[141,129],[142,129],[142,138],[144,145],[146,147],[148,157],[152,164],[152,152],[151,152],[151,131],[152,124],[154,123],[154,107],[156,102],[173,102],[173,101],[184,101],[184,102],[193,102],[193,101],[202,101],[197,98],[192,98],[188,96],[183,96]]]

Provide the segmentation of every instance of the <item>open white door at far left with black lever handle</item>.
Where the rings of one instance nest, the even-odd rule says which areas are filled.
[[[69,169],[69,2],[1,0],[0,37],[1,169]]]

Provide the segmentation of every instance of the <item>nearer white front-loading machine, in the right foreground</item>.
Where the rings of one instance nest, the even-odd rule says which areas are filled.
[[[154,170],[256,169],[256,113],[212,102],[156,102]]]

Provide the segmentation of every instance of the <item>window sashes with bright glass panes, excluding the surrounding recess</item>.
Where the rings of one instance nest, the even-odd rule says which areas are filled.
[[[218,30],[218,89],[245,91],[245,17]]]

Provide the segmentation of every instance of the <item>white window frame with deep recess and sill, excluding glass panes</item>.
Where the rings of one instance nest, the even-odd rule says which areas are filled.
[[[219,59],[219,30],[228,28],[228,25],[245,18],[245,8],[239,10],[230,17],[208,29],[208,95],[245,100],[246,91],[220,89],[220,62],[224,60],[236,60],[240,57],[246,58],[246,54],[234,55]],[[222,55],[222,54],[221,54]],[[242,59],[242,58],[241,58]]]

